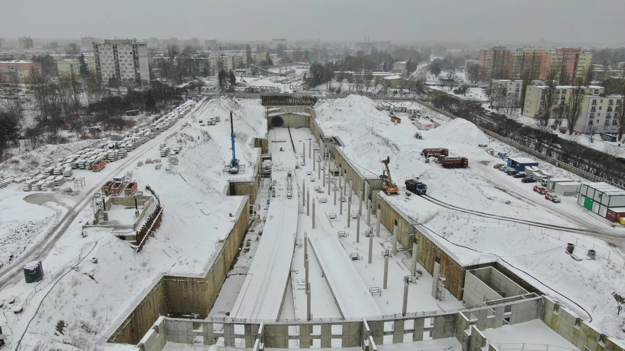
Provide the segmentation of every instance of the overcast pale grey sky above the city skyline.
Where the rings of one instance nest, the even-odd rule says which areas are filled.
[[[0,37],[625,41],[625,0],[6,1]]]

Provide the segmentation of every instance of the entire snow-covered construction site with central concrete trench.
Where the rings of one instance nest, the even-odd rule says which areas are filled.
[[[259,97],[5,161],[7,346],[624,350],[625,191],[414,100]]]

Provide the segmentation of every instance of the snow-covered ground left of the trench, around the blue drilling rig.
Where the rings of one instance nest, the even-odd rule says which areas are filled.
[[[85,176],[87,181],[78,196],[24,193],[19,185],[0,190],[0,238],[12,240],[19,235],[19,243],[24,245],[30,243],[31,234],[41,238],[41,233],[68,211],[67,207],[76,211],[76,218],[56,243],[46,237],[46,243],[51,243],[48,252],[42,254],[46,278],[37,289],[25,284],[23,275],[17,274],[0,291],[0,302],[4,302],[0,304],[4,312],[0,325],[10,327],[12,345],[23,333],[21,345],[27,349],[65,344],[67,350],[85,350],[103,336],[124,310],[133,308],[131,302],[161,274],[200,272],[205,268],[219,240],[232,228],[229,213],[236,212],[242,201],[224,192],[229,177],[222,169],[232,155],[231,110],[237,158],[246,165],[246,171],[237,177],[249,178],[259,152],[252,149],[251,138],[266,133],[264,108],[258,100],[220,98],[199,103],[166,132],[99,173],[74,170],[74,176]],[[217,125],[202,127],[197,122],[216,116],[221,117]],[[160,158],[161,142],[182,146],[179,165],[172,166],[170,172],[165,171],[169,166],[165,159],[160,170],[154,164],[138,166],[138,161]],[[89,196],[105,180],[126,171],[133,171],[141,190],[151,186],[164,206],[161,228],[139,253],[117,239],[111,229],[88,228],[84,231],[86,236],[81,236],[82,224],[93,218]],[[32,198],[33,195],[38,197]],[[4,253],[1,257],[5,257]],[[98,263],[91,262],[91,257],[97,257]],[[65,266],[75,268],[66,269],[52,281],[51,275],[63,272]],[[24,312],[13,314],[14,305],[23,305]],[[58,329],[64,334],[59,334]]]

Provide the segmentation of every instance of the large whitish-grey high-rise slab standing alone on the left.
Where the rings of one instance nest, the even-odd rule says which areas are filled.
[[[149,80],[148,44],[136,39],[94,42],[96,71],[103,80]]]

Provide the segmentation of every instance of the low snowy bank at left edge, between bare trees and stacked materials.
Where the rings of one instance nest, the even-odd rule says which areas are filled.
[[[9,158],[0,164],[0,179],[8,176],[21,176],[35,168],[53,163],[58,158],[88,148],[94,143],[101,143],[99,139],[81,140],[80,142],[52,145],[47,144],[42,147],[22,155]]]

